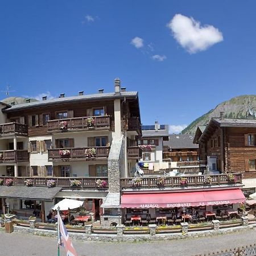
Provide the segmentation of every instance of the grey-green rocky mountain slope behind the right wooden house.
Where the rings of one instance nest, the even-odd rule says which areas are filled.
[[[220,112],[224,112],[226,118],[246,118],[246,112],[256,114],[256,95],[242,95],[224,101],[218,104],[216,108],[210,110],[208,113],[201,115],[188,125],[181,133],[195,133],[197,126],[207,125],[210,118],[220,117]],[[255,118],[250,115],[249,118]]]

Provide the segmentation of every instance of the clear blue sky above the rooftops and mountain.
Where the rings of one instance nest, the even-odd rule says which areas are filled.
[[[138,90],[144,125],[255,94],[255,1],[1,1],[0,89]],[[191,17],[193,19],[191,19]],[[5,98],[5,94],[0,94]]]

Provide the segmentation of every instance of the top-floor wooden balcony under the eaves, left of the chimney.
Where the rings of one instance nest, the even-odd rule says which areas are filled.
[[[88,125],[88,118],[93,118],[92,126]],[[67,122],[67,129],[61,129],[61,122]],[[110,115],[96,117],[76,117],[49,120],[47,122],[48,133],[60,133],[61,131],[88,131],[88,130],[110,130]]]

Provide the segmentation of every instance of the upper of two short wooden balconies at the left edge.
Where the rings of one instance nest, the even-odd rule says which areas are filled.
[[[0,134],[1,136],[5,135],[21,135],[27,136],[28,128],[27,125],[23,125],[22,123],[2,123],[0,125]]]

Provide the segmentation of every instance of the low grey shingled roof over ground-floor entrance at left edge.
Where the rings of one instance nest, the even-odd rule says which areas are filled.
[[[0,197],[51,201],[60,187],[0,186]]]

